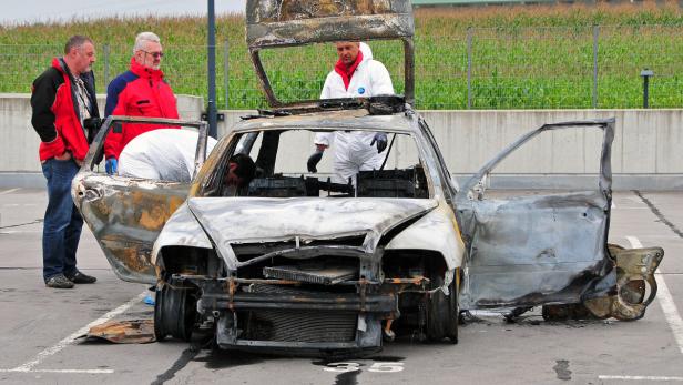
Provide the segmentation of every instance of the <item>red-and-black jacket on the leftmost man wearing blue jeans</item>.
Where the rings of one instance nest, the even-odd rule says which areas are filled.
[[[44,161],[64,151],[82,161],[88,153],[88,136],[79,114],[72,78],[63,60],[54,58],[52,67],[33,81],[31,124],[40,135],[39,155]],[[92,105],[91,116],[100,116],[92,72],[81,74]],[[92,138],[93,133],[90,133]]]

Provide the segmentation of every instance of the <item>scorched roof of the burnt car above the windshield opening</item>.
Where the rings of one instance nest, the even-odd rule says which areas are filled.
[[[412,133],[411,112],[370,114],[366,109],[300,113],[284,116],[249,116],[237,123],[234,132],[275,129],[371,130]]]

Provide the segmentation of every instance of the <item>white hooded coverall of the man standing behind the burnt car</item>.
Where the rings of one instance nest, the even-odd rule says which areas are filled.
[[[348,90],[344,87],[344,80],[334,70],[327,74],[320,99],[336,98],[369,98],[376,95],[394,94],[394,85],[389,71],[377,60],[373,60],[373,51],[366,43],[360,43],[363,61],[356,68]],[[336,183],[347,183],[355,178],[358,171],[377,170],[384,162],[386,151],[377,153],[377,146],[370,145],[376,132],[371,131],[337,131],[318,133],[315,135],[315,144],[329,146],[335,142],[335,175]]]

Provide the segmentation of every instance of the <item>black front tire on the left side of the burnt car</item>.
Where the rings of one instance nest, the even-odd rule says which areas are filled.
[[[190,341],[196,321],[195,297],[187,287],[170,285],[156,288],[154,302],[154,336],[163,341],[167,335]]]

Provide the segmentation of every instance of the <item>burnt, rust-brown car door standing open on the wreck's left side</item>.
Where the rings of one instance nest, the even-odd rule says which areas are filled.
[[[104,138],[122,122],[198,129],[195,174],[206,158],[206,123],[110,116],[90,146],[72,183],[72,196],[116,275],[130,282],[156,282],[152,246],[166,220],[185,201],[191,183],[108,175],[98,172]]]

